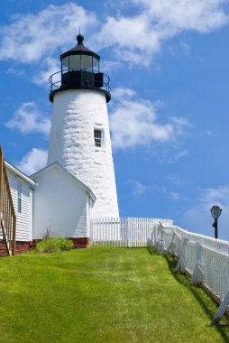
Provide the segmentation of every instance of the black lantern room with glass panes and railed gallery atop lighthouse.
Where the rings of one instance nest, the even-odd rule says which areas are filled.
[[[78,34],[78,44],[60,55],[61,71],[50,76],[50,101],[54,94],[67,89],[91,89],[105,93],[110,101],[110,79],[99,71],[100,56],[87,49],[84,36]]]

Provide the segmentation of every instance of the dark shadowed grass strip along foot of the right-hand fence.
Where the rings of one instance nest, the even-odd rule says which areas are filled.
[[[155,255],[155,252],[152,252],[151,255]],[[213,301],[210,296],[203,290],[201,287],[191,286],[188,276],[181,273],[175,273],[175,268],[178,263],[174,258],[170,256],[165,256],[167,264],[169,266],[169,270],[174,276],[174,278],[182,284],[184,287],[188,288],[190,292],[193,293],[197,301],[200,303],[203,310],[206,312],[207,317],[209,318],[209,327],[211,327],[210,321],[213,319],[215,315],[215,301]],[[224,338],[224,342],[229,343],[229,326],[228,320],[225,318],[221,320],[215,329],[221,334],[222,338]]]

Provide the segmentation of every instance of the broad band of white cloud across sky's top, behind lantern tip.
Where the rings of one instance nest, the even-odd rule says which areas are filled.
[[[12,23],[0,32],[0,60],[20,63],[39,63],[41,84],[46,74],[55,70],[57,52],[72,45],[81,26],[88,35],[88,46],[99,51],[109,48],[115,62],[149,66],[161,45],[184,31],[213,32],[228,23],[224,12],[226,0],[130,0],[128,7],[136,11],[122,14],[122,7],[114,11],[106,5],[106,18],[87,11],[80,5],[49,5],[37,14],[17,14]],[[126,5],[126,3],[124,2]],[[117,13],[117,14],[116,14]],[[185,49],[188,47],[184,42]],[[189,47],[188,47],[189,49]],[[109,61],[106,61],[106,65]],[[55,68],[53,68],[53,66]]]

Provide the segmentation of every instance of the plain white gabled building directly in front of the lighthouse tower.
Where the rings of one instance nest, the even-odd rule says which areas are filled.
[[[90,236],[94,193],[57,162],[31,176],[36,182],[33,239],[47,233],[69,238]],[[88,242],[87,242],[88,243]]]

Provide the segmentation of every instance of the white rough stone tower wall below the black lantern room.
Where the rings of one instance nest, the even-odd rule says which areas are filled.
[[[102,130],[102,147],[95,146],[94,129]],[[48,165],[52,162],[93,190],[93,217],[119,217],[104,93],[74,89],[54,95]]]

